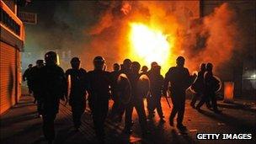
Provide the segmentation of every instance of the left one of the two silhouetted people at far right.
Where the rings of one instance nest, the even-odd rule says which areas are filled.
[[[205,63],[200,64],[200,72],[198,72],[198,75],[195,79],[195,83],[192,84],[191,88],[195,91],[195,94],[193,95],[191,99],[191,107],[195,109],[195,103],[197,99],[201,99],[203,97],[203,93],[205,91],[205,82],[204,82],[204,75],[206,71]],[[211,108],[211,104],[209,100],[205,101],[207,108]]]

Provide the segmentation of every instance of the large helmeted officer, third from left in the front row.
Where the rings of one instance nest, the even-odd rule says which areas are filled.
[[[99,141],[104,141],[104,121],[109,110],[110,72],[105,72],[104,58],[96,56],[94,70],[88,72],[88,104],[92,110],[93,124]]]

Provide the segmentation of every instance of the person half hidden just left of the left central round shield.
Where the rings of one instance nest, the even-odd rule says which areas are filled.
[[[113,72],[111,72],[111,79],[113,81],[112,84],[112,94],[111,99],[113,99],[114,104],[112,105],[112,111],[111,111],[111,117],[114,118],[116,115],[118,115],[118,110],[120,107],[120,98],[118,98],[118,89],[117,89],[117,78],[120,75],[120,65],[118,63],[115,63],[113,65]]]

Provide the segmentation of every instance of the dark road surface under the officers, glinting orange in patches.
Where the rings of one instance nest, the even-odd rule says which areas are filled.
[[[168,99],[171,102],[171,99]],[[255,143],[256,142],[256,110],[255,103],[243,103],[235,101],[233,104],[225,104],[218,101],[222,110],[221,115],[202,107],[202,113],[189,106],[190,100],[186,100],[184,125],[188,130],[178,131],[177,128],[168,125],[168,116],[171,108],[166,99],[162,99],[163,114],[167,122],[159,122],[156,115],[148,121],[150,134],[141,136],[140,125],[136,110],[133,112],[133,133],[131,136],[122,133],[124,119],[121,123],[114,123],[107,119],[105,122],[106,143]],[[109,101],[109,108],[112,105]],[[146,101],[145,101],[146,104]],[[60,111],[56,117],[55,143],[99,143],[93,131],[93,121],[89,109],[83,115],[83,124],[79,131],[75,131],[72,125],[71,108],[60,104]],[[174,122],[174,125],[176,123]],[[47,143],[42,130],[42,120],[37,116],[36,106],[31,96],[23,96],[19,104],[13,106],[0,118],[1,144],[13,143]],[[252,140],[197,140],[197,133],[250,133]]]

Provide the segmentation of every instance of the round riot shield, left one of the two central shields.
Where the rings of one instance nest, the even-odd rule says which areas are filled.
[[[131,101],[131,83],[125,73],[120,73],[117,78],[117,96],[120,104],[128,104]]]

